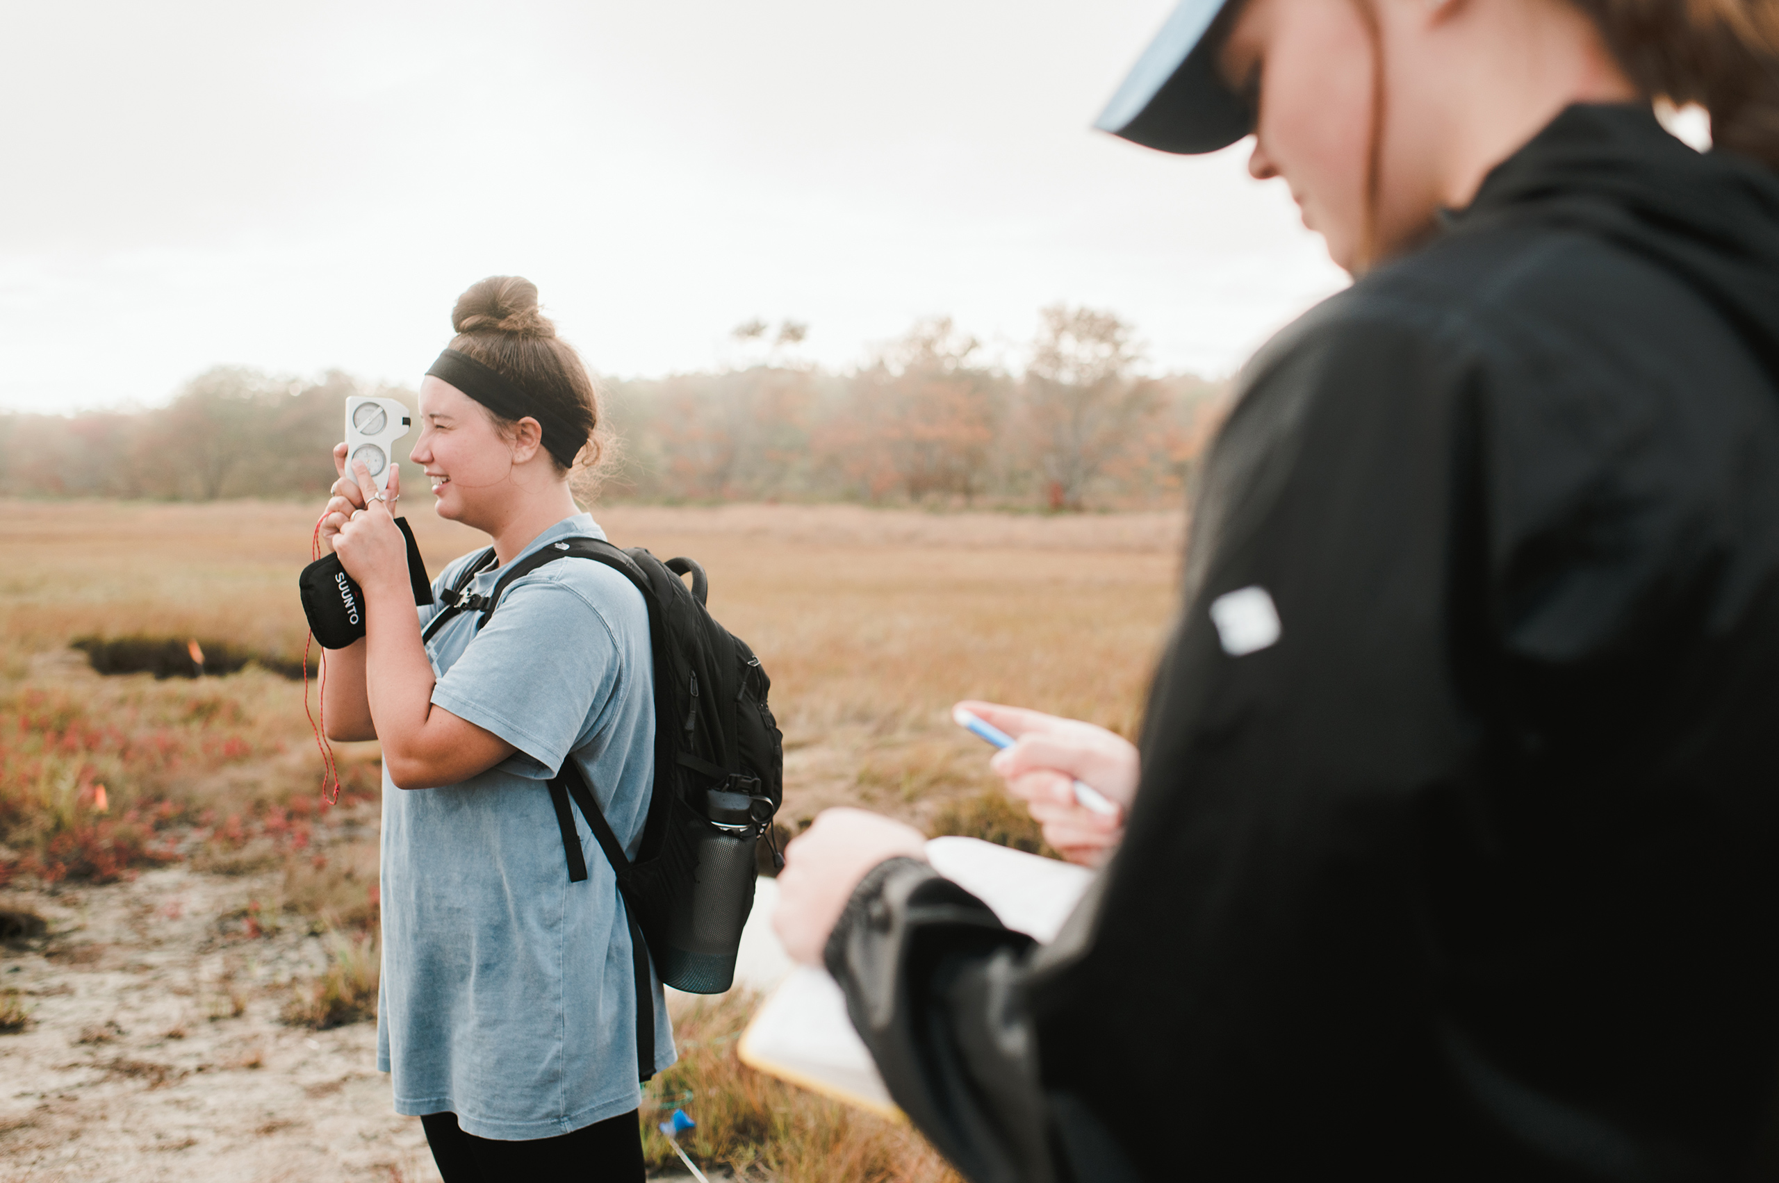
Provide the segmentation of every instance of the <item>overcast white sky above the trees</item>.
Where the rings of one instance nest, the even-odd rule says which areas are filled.
[[[1007,361],[1067,301],[1226,374],[1345,283],[1247,146],[1089,130],[1169,0],[62,0],[0,46],[0,406],[219,363],[416,382],[534,279],[610,375],[751,317],[831,366],[950,313]]]

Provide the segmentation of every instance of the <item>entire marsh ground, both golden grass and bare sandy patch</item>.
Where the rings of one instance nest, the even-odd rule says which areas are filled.
[[[957,697],[1131,733],[1183,532],[1179,514],[596,516],[619,544],[708,569],[712,610],[774,681],[793,829],[831,804],[929,831],[1009,824],[986,749],[946,719]],[[69,649],[142,635],[301,655],[311,521],[285,503],[0,503],[0,909],[46,921],[0,950],[0,1000],[28,1012],[0,1034],[0,1183],[434,1178],[418,1121],[390,1114],[375,1028],[350,1021],[375,964],[375,744],[340,745],[345,793],[320,808],[299,683],[101,678]],[[432,571],[477,544],[427,509],[413,521]],[[852,1153],[856,1178],[941,1178],[907,1135],[731,1066],[742,1018],[738,1000],[688,1014],[713,1034],[672,1087],[735,1110],[735,1137],[754,1128],[745,1105],[779,1114],[747,1135],[763,1140],[747,1171],[824,1178]]]

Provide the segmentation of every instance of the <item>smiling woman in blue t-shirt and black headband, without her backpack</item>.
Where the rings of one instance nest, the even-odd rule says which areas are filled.
[[[637,1082],[674,1062],[672,1030],[656,984],[655,1062],[639,1066],[624,904],[603,857],[569,882],[546,781],[580,761],[635,852],[655,783],[648,608],[601,564],[553,562],[514,580],[486,628],[463,612],[422,639],[447,589],[486,596],[555,541],[605,537],[569,489],[598,459],[598,398],[537,288],[484,279],[452,326],[409,459],[438,514],[493,546],[450,564],[416,616],[402,534],[345,445],[322,523],[366,603],[365,639],[327,656],[327,731],[382,745],[379,1067],[445,1183],[637,1183]]]

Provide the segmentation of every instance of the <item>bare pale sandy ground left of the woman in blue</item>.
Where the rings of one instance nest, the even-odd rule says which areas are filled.
[[[0,897],[50,921],[0,952],[32,1007],[0,1035],[0,1179],[438,1179],[372,1023],[279,1023],[326,950],[295,925],[246,934],[237,913],[274,875],[174,866]]]

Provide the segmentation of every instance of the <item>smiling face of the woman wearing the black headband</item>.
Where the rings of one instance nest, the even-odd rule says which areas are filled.
[[[514,493],[512,441],[480,402],[431,374],[420,382],[420,439],[409,459],[432,482],[439,518],[487,528]]]

